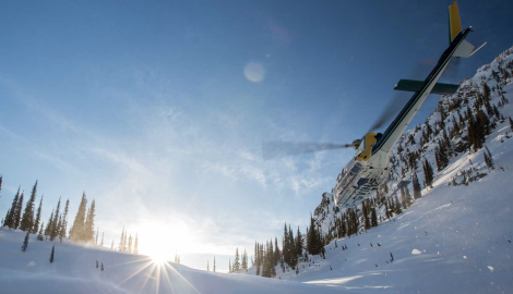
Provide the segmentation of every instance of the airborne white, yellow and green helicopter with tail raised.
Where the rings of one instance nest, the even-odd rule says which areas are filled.
[[[264,143],[264,159],[275,156],[275,150],[285,147],[287,155],[313,152],[321,150],[355,148],[355,156],[342,169],[333,189],[335,205],[338,208],[353,208],[369,198],[373,191],[385,182],[390,172],[390,155],[401,135],[408,127],[420,106],[429,94],[452,95],[458,85],[438,83],[453,58],[469,58],[481,49],[475,49],[465,38],[472,26],[462,29],[457,2],[449,7],[449,48],[440,57],[425,81],[401,79],[394,90],[413,91],[414,95],[403,107],[384,133],[367,133],[361,139],[350,144],[287,144],[279,142]]]

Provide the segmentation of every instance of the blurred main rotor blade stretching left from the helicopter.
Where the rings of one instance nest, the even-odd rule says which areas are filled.
[[[301,154],[311,154],[323,150],[333,150],[354,147],[351,144],[317,144],[317,143],[294,143],[294,142],[264,142],[262,143],[262,157],[264,160],[293,156]]]

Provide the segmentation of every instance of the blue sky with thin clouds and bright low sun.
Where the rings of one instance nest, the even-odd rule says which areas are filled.
[[[395,83],[423,78],[446,48],[450,4],[3,1],[0,215],[37,179],[45,220],[59,196],[73,218],[85,191],[107,244],[126,225],[143,253],[227,268],[236,246],[252,252],[285,221],[305,231],[351,156],[264,162],[262,140],[361,137]],[[458,4],[468,39],[488,45],[445,82],[513,40],[509,1]]]

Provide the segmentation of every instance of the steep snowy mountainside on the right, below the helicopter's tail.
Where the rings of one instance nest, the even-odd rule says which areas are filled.
[[[411,199],[411,207],[390,220],[384,205],[374,198],[382,221],[350,238],[336,237],[335,220],[343,211],[336,211],[332,195],[325,194],[314,218],[324,236],[332,240],[325,246],[326,258],[314,256],[300,262],[298,274],[294,270],[283,273],[277,267],[277,277],[361,293],[512,293],[513,134],[508,118],[513,106],[504,102],[513,101],[513,81],[508,76],[512,69],[513,49],[509,49],[465,79],[458,93],[441,98],[437,112],[427,119],[434,130],[429,140],[422,138],[423,124],[406,132],[395,146],[386,197],[401,181],[410,180],[411,155],[418,161],[415,172],[420,183],[425,180],[421,162],[427,159],[433,167],[433,188],[423,186],[422,197]],[[458,112],[468,108],[477,112],[484,83],[491,89],[487,112],[494,128],[482,149],[473,151],[465,146],[467,128],[457,133],[452,126],[454,119],[461,125]],[[493,114],[493,106],[499,115]],[[450,134],[452,156],[437,172],[436,154],[444,136],[441,126]],[[485,147],[494,169],[485,162]],[[407,187],[411,189],[411,184]],[[361,210],[359,217],[362,230]]]

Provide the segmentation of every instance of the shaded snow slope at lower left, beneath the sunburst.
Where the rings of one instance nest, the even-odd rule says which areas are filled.
[[[36,241],[0,230],[0,293],[337,293],[334,289],[247,274],[214,273],[98,246]],[[55,261],[49,262],[52,245]],[[96,269],[96,260],[105,270]]]

